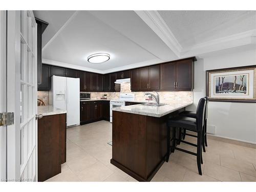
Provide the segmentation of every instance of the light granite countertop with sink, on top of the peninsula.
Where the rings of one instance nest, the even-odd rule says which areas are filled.
[[[172,104],[166,104],[163,106],[148,106],[142,104],[135,104],[113,108],[113,111],[133,113],[152,117],[162,117],[181,108],[185,108],[185,106],[188,106],[190,104],[193,104],[193,102],[176,102]]]

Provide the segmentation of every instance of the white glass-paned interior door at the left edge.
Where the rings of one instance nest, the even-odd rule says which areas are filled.
[[[7,179],[37,181],[37,25],[32,11],[7,11]]]

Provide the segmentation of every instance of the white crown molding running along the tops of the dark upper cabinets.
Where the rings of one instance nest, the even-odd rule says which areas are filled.
[[[160,62],[163,62],[163,60],[161,60],[161,59],[152,59],[152,60],[147,60],[147,61],[143,61],[143,62],[133,63],[133,64],[127,65],[127,66],[112,68],[112,69],[109,69],[109,70],[97,70],[97,69],[77,66],[77,65],[74,65],[74,64],[71,64],[71,63],[66,63],[66,62],[59,62],[59,61],[54,61],[54,60],[49,60],[49,59],[42,59],[42,63],[46,63],[48,65],[57,66],[57,67],[64,67],[64,68],[69,68],[69,69],[76,69],[76,70],[81,70],[81,71],[88,71],[88,72],[99,73],[99,74],[113,73],[113,72],[117,72],[117,71],[124,71],[124,70],[139,68],[139,67],[151,66],[151,65],[154,65],[154,64],[157,64],[157,63],[160,63]]]

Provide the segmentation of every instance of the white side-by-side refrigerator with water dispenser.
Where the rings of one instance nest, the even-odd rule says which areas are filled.
[[[49,104],[67,111],[67,126],[80,124],[80,79],[71,77],[51,77]]]

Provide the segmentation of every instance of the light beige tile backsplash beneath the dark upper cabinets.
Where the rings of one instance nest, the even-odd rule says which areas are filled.
[[[121,93],[132,93],[131,84],[123,83],[120,87]],[[147,96],[144,96],[145,92],[133,92],[135,93],[135,101],[145,101]],[[154,92],[152,92],[154,93]],[[193,102],[193,91],[159,91],[161,103],[174,103],[177,101],[191,101]],[[91,99],[100,99],[103,94],[106,94],[108,99],[118,99],[119,92],[91,92]],[[48,105],[49,93],[47,91],[38,91],[38,99],[41,99]]]

